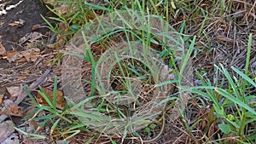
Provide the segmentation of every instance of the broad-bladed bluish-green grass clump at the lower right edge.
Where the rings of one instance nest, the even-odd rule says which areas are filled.
[[[248,64],[250,60],[250,51],[252,43],[252,34],[250,35],[248,48],[247,48],[247,63],[245,72],[241,72],[236,67],[231,67],[236,75],[231,76],[223,65],[216,66],[217,74],[221,72],[228,81],[227,88],[222,85],[212,86],[210,81],[205,81],[201,75],[198,77],[201,79],[202,86],[192,87],[192,92],[202,95],[207,100],[212,101],[212,116],[216,117],[214,120],[218,124],[218,129],[221,133],[218,133],[218,137],[212,141],[218,142],[235,142],[236,143],[255,143],[256,135],[256,112],[255,107],[255,95],[253,95],[248,88],[255,89],[256,84],[252,78],[249,78]],[[238,76],[238,77],[236,77]],[[221,80],[220,80],[221,82]],[[223,84],[218,83],[216,84]],[[204,92],[201,90],[205,90]],[[215,115],[215,116],[214,116]]]

